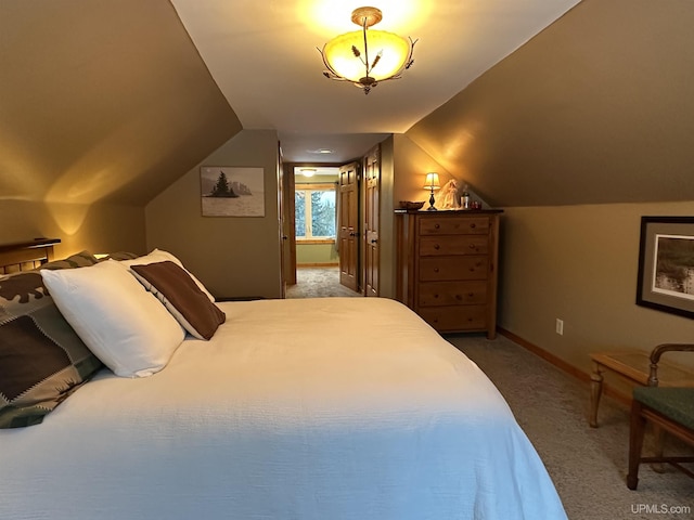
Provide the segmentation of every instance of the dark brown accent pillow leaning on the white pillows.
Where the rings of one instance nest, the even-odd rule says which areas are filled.
[[[209,301],[193,278],[171,261],[130,265],[134,276],[156,296],[185,330],[209,339],[227,315]]]

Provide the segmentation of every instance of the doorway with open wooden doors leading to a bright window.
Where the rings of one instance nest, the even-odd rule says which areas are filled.
[[[349,164],[284,165],[287,298],[378,296],[380,155],[376,145]]]

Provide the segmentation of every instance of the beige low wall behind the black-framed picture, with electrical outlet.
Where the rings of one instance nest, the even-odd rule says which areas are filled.
[[[694,341],[694,321],[634,303],[641,217],[692,213],[694,203],[507,208],[500,326],[586,373],[592,351]]]

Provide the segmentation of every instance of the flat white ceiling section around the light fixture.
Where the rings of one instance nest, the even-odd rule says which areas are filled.
[[[171,0],[245,129],[274,129],[286,161],[345,161],[403,133],[578,0]],[[369,95],[323,77],[317,51],[383,11],[376,28],[419,39],[414,65]],[[333,151],[318,154],[319,148]]]

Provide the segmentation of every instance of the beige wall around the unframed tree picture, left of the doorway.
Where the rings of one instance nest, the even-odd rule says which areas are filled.
[[[150,249],[178,256],[216,297],[279,298],[278,135],[243,130],[145,208]],[[202,217],[201,166],[265,169],[265,217]]]

